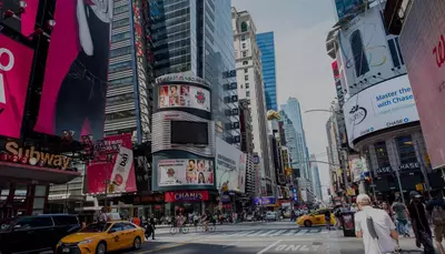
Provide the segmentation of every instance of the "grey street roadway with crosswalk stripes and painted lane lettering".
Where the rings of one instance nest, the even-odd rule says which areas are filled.
[[[324,227],[298,227],[291,222],[246,223],[217,226],[214,233],[170,235],[169,228],[158,230],[155,241],[129,253],[211,253],[211,254],[363,254],[362,240],[344,237],[342,231]],[[402,238],[406,253],[422,253],[413,238]]]

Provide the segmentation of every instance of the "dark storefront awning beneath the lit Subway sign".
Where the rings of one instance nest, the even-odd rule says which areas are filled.
[[[38,182],[62,184],[80,176],[79,172],[0,162],[0,177],[33,180]]]

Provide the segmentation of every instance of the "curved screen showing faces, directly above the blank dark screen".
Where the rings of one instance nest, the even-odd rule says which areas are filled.
[[[210,112],[210,92],[186,84],[159,87],[159,109],[191,108]]]

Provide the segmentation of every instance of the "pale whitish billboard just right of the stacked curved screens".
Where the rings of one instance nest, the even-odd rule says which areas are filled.
[[[216,138],[217,187],[244,193],[246,190],[246,154]]]

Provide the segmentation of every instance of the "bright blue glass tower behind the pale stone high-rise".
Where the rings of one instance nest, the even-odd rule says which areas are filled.
[[[263,81],[267,110],[277,110],[277,78],[275,68],[274,32],[257,34],[257,44],[261,51]]]

